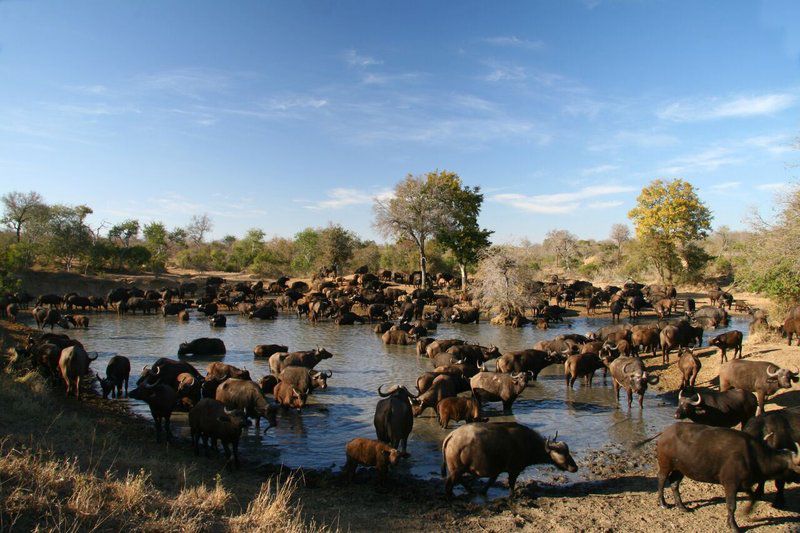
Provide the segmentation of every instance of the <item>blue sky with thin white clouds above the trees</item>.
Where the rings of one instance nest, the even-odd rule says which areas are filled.
[[[496,240],[604,238],[654,178],[743,227],[796,181],[800,3],[0,1],[0,191],[214,235],[340,222],[408,173]]]

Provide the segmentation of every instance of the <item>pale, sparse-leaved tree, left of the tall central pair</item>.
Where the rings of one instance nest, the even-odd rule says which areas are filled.
[[[424,176],[409,174],[398,183],[394,196],[388,200],[375,199],[375,228],[385,237],[409,239],[419,253],[422,287],[427,286],[427,257],[425,244],[436,233],[451,226],[452,213],[443,201],[441,176],[447,171],[429,172]]]

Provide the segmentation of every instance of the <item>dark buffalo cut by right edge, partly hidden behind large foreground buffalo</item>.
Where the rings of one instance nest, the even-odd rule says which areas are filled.
[[[791,450],[796,442],[800,442],[800,413],[792,412],[789,409],[770,411],[747,422],[744,432],[763,441],[774,450]],[[777,494],[773,506],[777,508],[783,507],[786,503],[783,489],[787,481],[800,483],[800,476],[793,472],[788,476],[775,479]],[[758,484],[756,494],[764,494],[763,482]]]

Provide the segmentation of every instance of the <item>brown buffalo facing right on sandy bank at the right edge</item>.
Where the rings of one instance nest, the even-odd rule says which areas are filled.
[[[764,402],[780,389],[791,389],[797,383],[797,372],[780,368],[767,361],[734,359],[719,368],[719,390],[741,389],[755,393],[758,414],[764,412]]]

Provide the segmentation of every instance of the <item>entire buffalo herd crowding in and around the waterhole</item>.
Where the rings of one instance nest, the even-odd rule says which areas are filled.
[[[91,381],[87,378],[97,355],[90,355],[78,340],[56,333],[54,328],[88,328],[89,317],[83,313],[141,312],[160,314],[165,319],[177,317],[178,322],[197,315],[208,321],[211,331],[227,325],[226,312],[238,312],[247,320],[275,320],[281,313],[291,312],[312,323],[372,324],[384,344],[413,347],[417,356],[430,361],[431,370],[417,378],[416,393],[399,383],[387,384],[386,390],[378,388],[374,415],[377,440],[356,438],[347,443],[344,477],[352,479],[357,466],[362,465],[376,468],[379,482],[384,481],[390,467],[409,455],[415,418],[430,408],[443,429],[453,422],[465,422],[449,433],[442,445],[442,476],[446,478],[448,498],[456,484],[464,483],[465,475],[488,478],[488,488],[498,475],[506,473],[509,496],[513,497],[517,477],[529,465],[552,464],[569,472],[578,468],[569,446],[559,441],[557,434],[548,438],[518,423],[491,422],[483,416],[485,404],[498,402],[504,413],[510,413],[515,400],[543,369],[563,365],[567,389],[579,379],[591,387],[595,373],[602,370],[604,377],[610,375],[617,399],[624,390],[628,409],[634,396],[638,396],[642,409],[648,386],[659,382],[644,357],[660,355],[663,369],[675,352],[682,375],[675,418],[692,423],[678,422],[653,437],[658,438],[659,503],[667,506],[664,489],[671,486],[675,505],[687,510],[679,492],[683,477],[721,484],[728,505],[728,525],[737,530],[737,492],[745,491],[755,499],[763,493],[765,481],[775,480],[775,504],[781,505],[785,483],[800,480],[800,415],[785,410],[764,412],[771,395],[798,381],[797,370],[744,359],[743,334],[733,330],[707,343],[720,353],[719,390],[695,386],[701,368],[695,349],[702,346],[705,330],[728,325],[728,311],[734,302],[729,292],[711,290],[710,305],[698,308],[692,298],[679,299],[672,286],[629,282],[622,287],[598,288],[588,282],[558,279],[534,283],[527,309],[504,313],[491,322],[512,327],[534,323],[546,328],[574,313],[570,307],[583,301],[589,315],[607,307],[613,323],[585,334],[558,335],[529,349],[503,352],[493,345],[435,337],[442,321],[480,321],[481,310],[466,292],[435,292],[419,286],[406,290],[395,283],[418,278],[398,277],[389,271],[371,274],[366,268],[347,279],[325,274],[331,272],[315,276],[311,284],[290,283],[288,277],[269,283],[228,283],[211,277],[205,284],[185,282],[159,291],[118,287],[105,297],[70,293],[33,298],[20,293],[0,298],[0,314],[16,321],[21,309],[35,304],[30,313],[42,331],[31,334],[24,346],[17,346],[17,356],[63,381],[66,395],[76,398],[80,397],[82,381]],[[435,279],[440,291],[456,283],[447,276]],[[640,322],[647,309],[653,311],[656,320]],[[76,314],[77,310],[82,314]],[[625,311],[630,320],[623,323],[620,320]],[[751,328],[767,323],[763,312],[750,310],[750,314]],[[43,331],[47,327],[50,331]],[[789,345],[795,335],[800,338],[800,307],[775,329],[788,338]],[[260,431],[263,418],[268,430],[276,425],[279,409],[302,410],[309,396],[324,391],[334,377],[332,370],[315,367],[323,361],[336,361],[334,353],[321,347],[290,351],[285,345],[261,344],[253,349],[253,357],[266,360],[270,374],[255,381],[246,368],[221,361],[210,363],[205,374],[191,364],[194,356],[224,357],[226,347],[219,338],[187,340],[176,353],[176,358],[162,357],[145,366],[130,397],[148,405],[157,441],[162,434],[168,441],[173,439],[170,419],[174,411],[188,412],[195,453],[200,453],[201,439],[206,454],[216,451],[219,440],[231,468],[239,466],[239,439],[250,421]],[[130,372],[126,357],[112,357],[106,376],[101,378],[97,373],[103,397],[128,396]],[[739,429],[731,429],[734,426]]]

